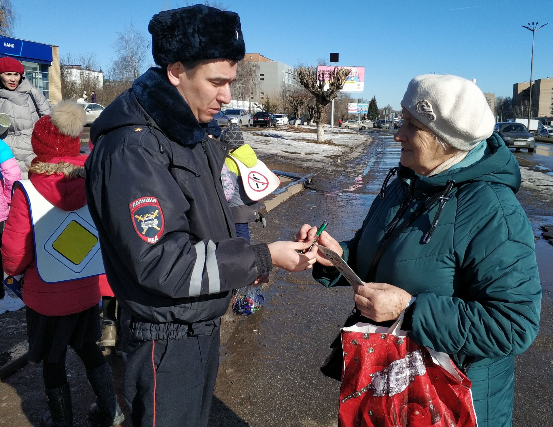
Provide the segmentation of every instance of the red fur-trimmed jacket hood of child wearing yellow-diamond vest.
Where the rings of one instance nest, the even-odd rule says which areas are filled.
[[[87,156],[54,157],[29,168],[29,180],[55,207],[65,211],[86,205],[85,161]]]

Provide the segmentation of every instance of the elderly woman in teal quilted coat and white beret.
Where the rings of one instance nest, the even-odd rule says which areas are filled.
[[[446,352],[472,381],[479,427],[513,423],[514,356],[538,333],[534,234],[515,193],[519,165],[493,133],[475,81],[423,75],[409,83],[394,140],[401,158],[352,240],[324,245],[367,283],[354,289],[373,323],[405,314],[418,344]],[[387,185],[391,175],[397,179]],[[314,238],[302,226],[298,240]],[[314,277],[347,282],[317,254]]]

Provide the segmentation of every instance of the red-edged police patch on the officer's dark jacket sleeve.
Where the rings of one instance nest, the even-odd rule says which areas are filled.
[[[129,204],[131,220],[138,237],[146,243],[157,243],[165,229],[163,211],[156,197],[140,197]]]

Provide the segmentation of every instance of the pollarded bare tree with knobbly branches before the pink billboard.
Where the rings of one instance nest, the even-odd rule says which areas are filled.
[[[317,124],[317,141],[322,142],[325,139],[323,110],[341,91],[350,70],[334,67],[330,71],[317,72],[317,68],[312,66],[299,67],[297,70],[301,85],[315,98],[313,119]],[[328,88],[325,89],[327,84]]]

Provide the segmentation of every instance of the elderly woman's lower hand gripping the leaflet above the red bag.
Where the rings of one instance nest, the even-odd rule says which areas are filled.
[[[369,282],[364,286],[353,286],[353,301],[357,309],[374,321],[397,319],[410,300],[409,292],[389,283]]]

